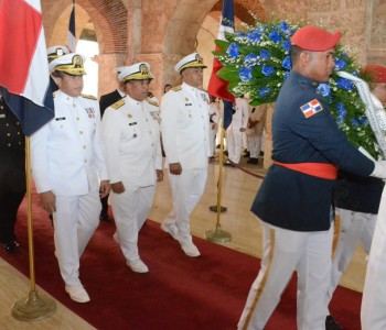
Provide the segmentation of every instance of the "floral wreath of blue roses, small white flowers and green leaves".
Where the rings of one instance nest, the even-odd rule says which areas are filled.
[[[291,69],[290,38],[302,24],[256,21],[254,26],[243,26],[245,32],[226,33],[227,41],[216,40],[222,51],[213,54],[223,65],[217,76],[229,82],[228,90],[233,94],[249,95],[253,106],[275,102]],[[339,70],[355,76],[360,74],[361,68],[347,51],[340,45],[335,47],[334,73],[328,84],[320,84],[317,89],[325,98],[337,127],[346,133],[349,141],[378,158],[382,153],[358,91],[350,80],[336,74]],[[368,76],[362,78],[369,80]]]

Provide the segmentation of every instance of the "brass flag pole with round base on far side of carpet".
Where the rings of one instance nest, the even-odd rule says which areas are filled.
[[[224,116],[223,116],[224,118]],[[222,188],[223,188],[223,158],[224,158],[224,121],[222,120],[221,125],[221,141],[219,141],[219,164],[218,164],[218,186],[217,186],[217,220],[216,220],[216,229],[208,230],[205,232],[206,240],[215,243],[227,243],[230,242],[232,235],[227,231],[222,230],[219,218],[221,218],[221,201],[222,201]]]

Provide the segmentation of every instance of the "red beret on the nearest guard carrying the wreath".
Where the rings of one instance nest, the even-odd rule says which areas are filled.
[[[291,44],[304,51],[324,52],[335,47],[341,38],[341,32],[334,34],[317,28],[300,28],[291,37]]]

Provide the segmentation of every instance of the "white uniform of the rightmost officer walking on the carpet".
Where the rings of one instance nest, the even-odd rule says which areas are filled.
[[[181,175],[169,174],[173,210],[164,222],[176,224],[180,242],[191,242],[190,213],[202,197],[210,155],[208,95],[185,82],[168,91],[161,103],[161,130],[167,163],[180,163]]]

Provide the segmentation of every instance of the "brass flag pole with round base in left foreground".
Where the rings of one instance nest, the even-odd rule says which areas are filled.
[[[31,157],[30,138],[25,136],[25,180],[28,204],[28,238],[30,260],[31,289],[28,298],[22,298],[13,304],[12,316],[21,321],[35,321],[52,316],[56,311],[55,300],[40,296],[35,285],[34,251],[33,251],[33,227],[32,227],[32,200],[31,200]]]

